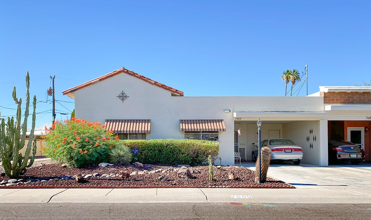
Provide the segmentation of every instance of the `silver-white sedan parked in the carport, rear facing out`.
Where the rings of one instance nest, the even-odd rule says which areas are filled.
[[[272,151],[270,160],[292,160],[299,165],[303,159],[303,149],[289,139],[269,139],[262,141],[262,147],[269,147]],[[253,161],[256,161],[258,154],[257,145],[252,152]]]

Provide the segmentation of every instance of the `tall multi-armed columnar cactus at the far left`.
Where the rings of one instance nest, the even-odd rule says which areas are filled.
[[[17,104],[17,121],[14,123],[14,119],[8,117],[8,122],[5,124],[4,119],[1,119],[0,127],[0,158],[2,166],[5,170],[5,174],[10,178],[15,178],[20,175],[22,169],[26,167],[31,167],[36,154],[36,137],[33,136],[33,131],[35,129],[35,119],[36,119],[36,96],[33,96],[33,114],[32,114],[32,128],[30,132],[30,138],[27,144],[27,149],[24,154],[24,159],[22,160],[22,154],[19,152],[24,147],[24,142],[26,140],[27,132],[27,117],[29,115],[30,106],[30,76],[27,72],[26,74],[26,109],[24,111],[24,121],[21,124],[21,104],[22,99],[17,99],[16,87],[13,88],[13,99]],[[6,125],[6,128],[5,128]],[[22,128],[21,128],[22,127]],[[20,135],[22,129],[22,137]],[[32,149],[32,156],[30,156]],[[28,160],[30,162],[28,163]],[[28,164],[27,164],[28,163]]]

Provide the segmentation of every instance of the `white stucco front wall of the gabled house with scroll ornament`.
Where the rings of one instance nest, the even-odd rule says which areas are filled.
[[[122,91],[129,96],[124,102],[116,97]],[[231,109],[231,112],[225,113],[224,109]],[[76,118],[101,123],[106,119],[151,119],[151,134],[147,134],[147,139],[183,139],[180,119],[224,119],[226,131],[219,133],[219,156],[223,165],[234,164],[233,112],[261,111],[323,112],[323,97],[171,96],[171,92],[125,73],[75,91]],[[257,120],[258,116],[253,119]],[[279,116],[275,119],[279,120]],[[255,127],[256,124],[246,125],[245,132],[255,132]],[[246,139],[247,159],[252,142]]]

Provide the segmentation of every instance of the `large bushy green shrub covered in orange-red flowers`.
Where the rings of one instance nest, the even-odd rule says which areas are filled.
[[[113,131],[105,131],[99,122],[86,122],[75,119],[56,121],[52,130],[45,128],[42,139],[46,141],[46,157],[53,162],[67,163],[70,167],[107,162],[110,148],[115,145],[110,140]]]

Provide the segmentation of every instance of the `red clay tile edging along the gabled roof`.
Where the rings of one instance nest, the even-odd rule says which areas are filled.
[[[183,96],[184,95],[184,93],[182,91],[179,91],[177,89],[171,88],[170,86],[164,85],[162,83],[156,82],[156,81],[154,81],[154,80],[152,80],[150,78],[147,78],[145,76],[142,76],[142,75],[140,75],[138,73],[135,73],[135,72],[133,72],[131,70],[125,69],[124,67],[121,67],[121,69],[118,69],[118,70],[112,71],[110,73],[107,73],[106,75],[99,76],[98,78],[92,79],[91,81],[82,83],[81,85],[78,85],[78,86],[72,87],[70,89],[67,89],[67,90],[63,91],[62,93],[63,93],[63,95],[67,95],[67,94],[72,93],[72,92],[75,92],[75,91],[77,91],[79,89],[85,88],[86,86],[93,85],[93,84],[95,84],[97,82],[100,82],[102,80],[105,80],[107,78],[110,78],[112,76],[115,76],[115,75],[117,75],[119,73],[129,74],[131,76],[134,76],[134,77],[136,77],[138,79],[141,79],[141,80],[143,80],[145,82],[148,82],[148,83],[150,83],[152,85],[158,86],[158,87],[160,87],[162,89],[166,89],[167,91],[173,92],[173,93],[178,94],[180,96]]]

